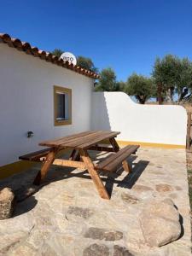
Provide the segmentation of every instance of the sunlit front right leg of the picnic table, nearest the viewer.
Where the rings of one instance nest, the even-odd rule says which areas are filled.
[[[101,177],[99,177],[98,172],[96,171],[95,166],[94,166],[92,160],[90,159],[90,156],[87,153],[87,151],[81,150],[80,155],[82,157],[82,160],[84,161],[85,167],[87,168],[88,172],[90,173],[90,177],[92,178],[93,183],[95,183],[95,186],[99,192],[99,195],[103,199],[110,199],[110,197],[108,195],[108,191],[105,188],[105,186],[103,185],[102,179],[101,179]]]

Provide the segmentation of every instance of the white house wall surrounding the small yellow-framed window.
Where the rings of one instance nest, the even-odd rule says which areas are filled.
[[[0,44],[0,166],[44,139],[90,130],[93,79]],[[72,125],[54,126],[53,85],[72,89]],[[26,131],[34,137],[27,138]]]

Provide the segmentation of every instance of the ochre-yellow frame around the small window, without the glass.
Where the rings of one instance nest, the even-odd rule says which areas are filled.
[[[68,96],[68,119],[58,120],[57,119],[57,91],[67,94]],[[72,125],[72,89],[54,85],[54,125]]]

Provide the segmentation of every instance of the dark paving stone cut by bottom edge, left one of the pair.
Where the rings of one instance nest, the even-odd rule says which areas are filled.
[[[90,247],[84,249],[84,256],[108,256],[109,249],[103,244],[93,243]]]

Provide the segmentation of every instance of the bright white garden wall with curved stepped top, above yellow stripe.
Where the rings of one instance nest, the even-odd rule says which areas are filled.
[[[91,128],[121,131],[123,141],[185,145],[187,113],[181,106],[140,105],[123,92],[94,92]]]

